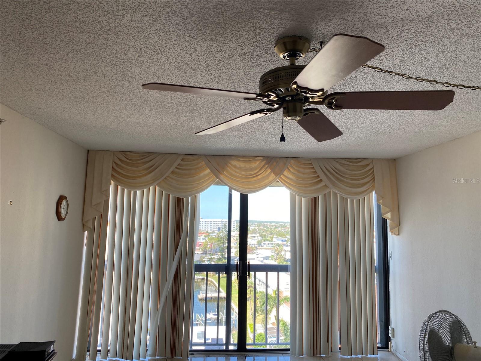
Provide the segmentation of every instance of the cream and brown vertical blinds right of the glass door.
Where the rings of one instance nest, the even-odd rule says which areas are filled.
[[[377,354],[373,207],[291,193],[291,354]]]

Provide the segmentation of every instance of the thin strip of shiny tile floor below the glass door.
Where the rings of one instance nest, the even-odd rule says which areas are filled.
[[[339,353],[331,353],[329,356],[292,356],[288,353],[279,354],[257,354],[257,355],[220,355],[220,354],[192,354],[190,361],[399,361],[391,352],[379,352],[377,356],[353,356],[345,357]]]

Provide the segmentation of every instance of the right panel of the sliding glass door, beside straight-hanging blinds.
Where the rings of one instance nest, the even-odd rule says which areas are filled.
[[[289,191],[249,194],[247,348],[289,348],[291,262]]]

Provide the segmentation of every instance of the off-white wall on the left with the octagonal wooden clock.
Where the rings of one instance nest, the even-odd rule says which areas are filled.
[[[87,150],[4,105],[0,115],[0,343],[56,340],[55,360],[71,360]]]

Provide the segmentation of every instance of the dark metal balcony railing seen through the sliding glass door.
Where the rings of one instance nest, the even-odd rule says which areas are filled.
[[[220,271],[221,266],[194,265],[191,349],[237,348],[238,283],[234,272],[229,294],[226,266]],[[247,348],[289,348],[289,267],[251,264],[247,287]]]

